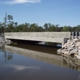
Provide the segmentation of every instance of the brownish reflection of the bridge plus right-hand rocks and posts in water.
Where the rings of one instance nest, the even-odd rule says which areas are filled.
[[[34,58],[36,60],[80,71],[80,61],[70,56],[64,57],[60,55],[38,52],[7,45],[5,46],[5,49],[10,53],[17,53],[26,57]]]

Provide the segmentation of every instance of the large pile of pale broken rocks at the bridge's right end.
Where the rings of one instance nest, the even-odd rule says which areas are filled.
[[[57,50],[61,55],[74,55],[80,59],[80,39],[69,39],[61,49]]]

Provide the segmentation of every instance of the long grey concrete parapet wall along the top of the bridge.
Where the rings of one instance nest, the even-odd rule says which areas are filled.
[[[10,32],[5,36],[70,38],[70,32]]]

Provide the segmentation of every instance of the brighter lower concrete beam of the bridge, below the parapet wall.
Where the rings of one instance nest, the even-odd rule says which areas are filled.
[[[16,41],[30,41],[30,42],[52,42],[52,43],[62,43],[64,38],[51,38],[51,37],[5,37],[6,39],[16,40]]]

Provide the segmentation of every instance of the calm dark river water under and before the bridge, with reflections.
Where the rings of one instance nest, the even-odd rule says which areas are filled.
[[[57,49],[33,44],[3,45],[0,80],[80,80],[80,66],[57,55]]]

